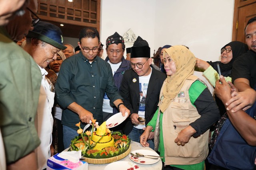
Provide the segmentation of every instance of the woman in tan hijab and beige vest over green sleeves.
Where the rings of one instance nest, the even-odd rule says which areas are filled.
[[[140,137],[142,146],[154,131],[155,150],[164,166],[174,170],[203,170],[208,154],[209,128],[219,118],[208,88],[194,76],[195,56],[184,46],[164,50],[167,78],[160,92],[159,109]]]

